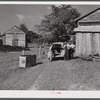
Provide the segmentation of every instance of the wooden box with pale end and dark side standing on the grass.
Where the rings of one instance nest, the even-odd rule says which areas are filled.
[[[19,56],[19,67],[26,68],[36,65],[36,55]]]

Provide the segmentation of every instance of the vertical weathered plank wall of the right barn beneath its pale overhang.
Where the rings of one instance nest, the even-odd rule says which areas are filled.
[[[100,55],[100,33],[77,33],[76,56]]]

